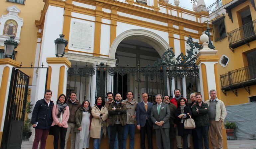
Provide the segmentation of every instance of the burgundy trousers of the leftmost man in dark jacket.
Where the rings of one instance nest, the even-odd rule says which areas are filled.
[[[46,145],[46,139],[49,133],[50,129],[37,129],[35,128],[36,133],[35,133],[35,139],[33,142],[33,146],[32,149],[37,149],[38,148],[38,144],[41,140],[41,146],[40,149],[45,149],[45,145]]]

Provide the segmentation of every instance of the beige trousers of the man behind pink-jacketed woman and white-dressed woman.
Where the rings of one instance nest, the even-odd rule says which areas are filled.
[[[65,149],[67,148],[67,140],[69,137],[69,133],[71,133],[71,146],[70,149],[75,149],[75,132],[74,132],[75,124],[74,123],[67,123],[67,133],[65,137]]]

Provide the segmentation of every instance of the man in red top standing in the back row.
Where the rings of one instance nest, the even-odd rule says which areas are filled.
[[[175,89],[174,90],[174,95],[175,95],[175,97],[170,100],[170,103],[173,103],[176,107],[178,107],[177,102],[181,98],[181,90],[180,89]],[[174,124],[174,128],[175,128],[175,131],[176,131],[175,133],[176,133],[177,148],[182,149],[181,136],[178,135],[177,124]],[[190,140],[189,139],[190,138],[188,138],[188,147],[190,149]]]

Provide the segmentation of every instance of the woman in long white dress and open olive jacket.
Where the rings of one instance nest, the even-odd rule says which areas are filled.
[[[89,148],[91,118],[90,102],[84,100],[75,113],[75,149]]]

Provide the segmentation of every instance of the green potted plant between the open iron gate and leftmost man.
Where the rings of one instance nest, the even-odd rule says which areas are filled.
[[[27,102],[27,106],[26,106],[26,120],[24,121],[24,126],[23,126],[23,138],[24,139],[28,139],[32,132],[31,132],[31,118],[28,118],[28,115],[32,112],[33,109],[33,104],[31,104],[32,102]]]

